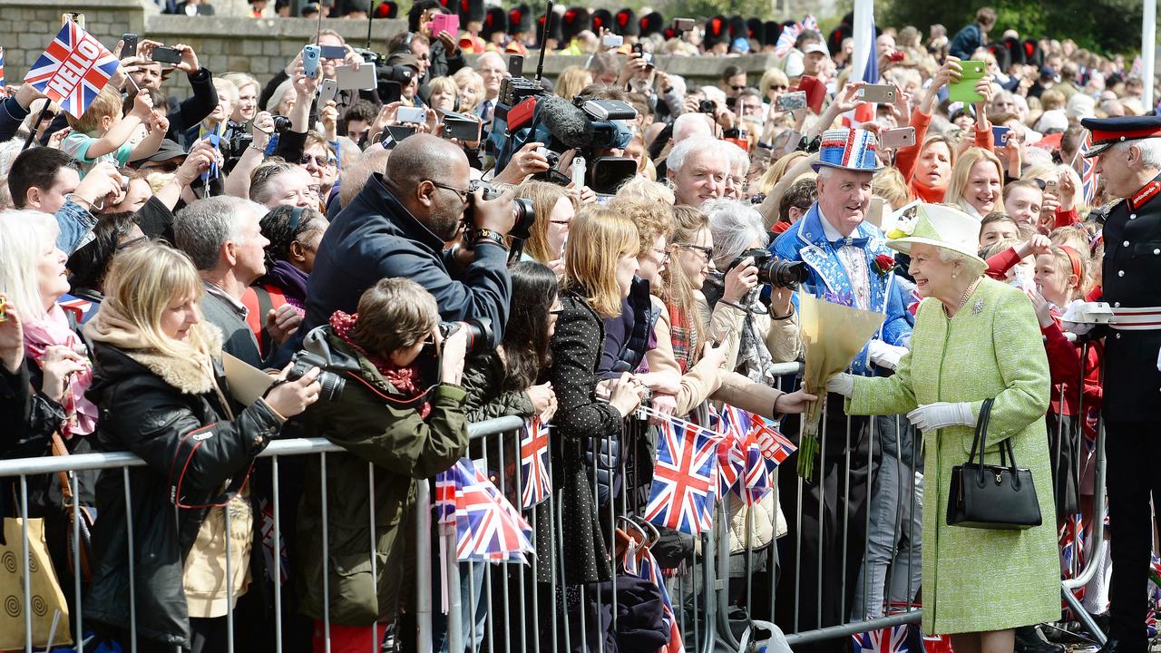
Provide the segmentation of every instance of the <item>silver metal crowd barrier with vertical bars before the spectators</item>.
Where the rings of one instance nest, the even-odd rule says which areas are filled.
[[[785,364],[778,366],[778,373],[785,374],[784,379],[798,373],[799,364]],[[1082,365],[1083,373],[1083,365]],[[1083,407],[1083,403],[1082,403]],[[1083,414],[1083,412],[1082,412]],[[834,419],[831,415],[829,419]],[[760,644],[762,632],[770,631],[770,624],[777,624],[785,632],[786,641],[799,647],[809,645],[836,646],[835,643],[820,644],[836,638],[849,639],[852,634],[886,629],[900,624],[913,624],[920,620],[920,609],[914,598],[920,588],[917,582],[913,582],[913,575],[920,565],[920,552],[909,550],[904,555],[903,544],[915,547],[922,539],[918,532],[917,515],[922,511],[922,500],[916,491],[916,483],[921,479],[917,464],[922,459],[920,449],[920,436],[911,438],[910,462],[899,462],[897,474],[892,487],[875,487],[873,479],[877,467],[881,469],[884,458],[881,445],[884,443],[895,443],[895,451],[903,454],[901,443],[906,440],[903,431],[909,429],[907,421],[899,418],[893,424],[887,421],[870,418],[866,422],[866,447],[859,451],[860,442],[852,437],[858,436],[861,428],[858,418],[845,418],[842,428],[828,429],[828,417],[823,416],[823,424],[820,429],[821,451],[827,454],[831,447],[841,450],[841,455],[832,455],[829,462],[816,465],[815,476],[820,480],[831,471],[834,487],[828,488],[825,483],[817,483],[812,488],[798,476],[794,465],[795,457],[791,457],[784,464],[785,469],[776,471],[773,483],[773,504],[776,515],[772,529],[777,532],[777,511],[780,505],[798,507],[786,514],[786,524],[789,532],[778,539],[772,540],[763,547],[755,545],[755,511],[749,510],[744,519],[741,540],[744,546],[740,551],[730,551],[730,514],[733,502],[740,501],[736,496],[728,496],[715,507],[714,528],[707,533],[687,541],[692,552],[682,557],[678,569],[670,571],[665,575],[665,584],[672,602],[675,618],[680,626],[684,637],[685,651],[690,653],[714,653],[719,651],[741,652],[756,651]],[[864,418],[866,419],[866,418]],[[510,490],[515,489],[515,501],[519,502],[520,488],[524,480],[520,478],[520,444],[519,429],[522,422],[517,417],[504,417],[490,419],[477,424],[469,424],[468,432],[471,439],[470,453],[475,460],[495,473],[497,487],[502,494],[512,496]],[[1083,425],[1082,425],[1083,428]],[[601,482],[599,472],[611,474],[613,486],[612,496],[598,503],[598,517],[603,532],[600,537],[606,545],[612,538],[612,529],[623,525],[626,517],[640,515],[644,505],[641,503],[639,491],[640,485],[636,480],[636,472],[632,471],[629,452],[642,442],[649,442],[651,437],[656,443],[655,432],[646,422],[630,418],[626,421],[623,431],[619,440],[607,438],[605,442],[593,443],[592,449],[599,451],[614,452],[614,455],[596,457],[590,466],[591,490],[594,498],[600,496]],[[1096,489],[1094,505],[1099,515],[1099,507],[1104,503],[1104,450],[1103,429],[1097,429],[1096,442]],[[551,442],[553,438],[549,438]],[[828,439],[830,440],[828,443]],[[843,442],[845,440],[845,442]],[[828,447],[828,444],[830,445]],[[615,445],[615,446],[614,446]],[[551,445],[550,445],[551,446]],[[272,472],[272,502],[273,502],[273,536],[274,541],[281,541],[282,517],[280,504],[280,473],[279,464],[291,457],[315,457],[316,464],[322,469],[325,480],[325,468],[327,454],[342,452],[337,445],[319,438],[296,438],[281,439],[271,443],[261,453],[261,458],[268,458]],[[655,451],[655,450],[654,450]],[[1079,462],[1077,462],[1079,464]],[[132,510],[132,501],[129,496],[130,467],[143,466],[144,462],[130,453],[91,453],[70,457],[43,457],[35,459],[0,460],[0,479],[15,478],[19,485],[20,514],[28,515],[28,478],[38,474],[51,474],[59,471],[80,469],[122,469],[125,487],[125,507]],[[507,469],[512,469],[510,474]],[[374,482],[375,469],[368,464],[368,482]],[[781,476],[779,479],[778,476]],[[880,479],[886,478],[880,475]],[[781,481],[781,482],[779,482]],[[554,474],[555,482],[555,474]],[[1046,479],[1045,482],[1048,482]],[[514,483],[514,488],[510,487]],[[868,486],[870,487],[866,487]],[[78,481],[72,476],[73,494],[78,493]],[[431,494],[426,482],[417,482],[416,487],[416,532],[413,534],[417,552],[416,572],[416,601],[411,608],[414,615],[414,645],[420,652],[430,651],[488,651],[511,653],[515,652],[540,652],[540,651],[571,651],[586,647],[586,644],[576,641],[577,637],[584,637],[586,643],[593,643],[585,650],[604,653],[604,638],[594,637],[594,632],[615,630],[619,618],[618,605],[618,561],[612,560],[614,569],[613,579],[610,583],[612,597],[611,604],[604,604],[604,594],[598,587],[570,587],[565,588],[563,579],[567,566],[575,565],[576,561],[568,559],[563,546],[562,525],[563,517],[561,510],[561,491],[554,487],[551,497],[541,505],[525,511],[528,522],[534,528],[535,537],[548,537],[550,541],[540,543],[538,551],[550,551],[551,559],[532,558],[528,566],[517,564],[482,564],[482,562],[459,562],[441,566],[438,557],[439,540],[444,539],[444,545],[449,552],[455,551],[454,532],[444,532],[440,526],[432,522]],[[829,491],[835,491],[838,496],[828,498]],[[879,493],[894,493],[894,498]],[[931,488],[938,491],[938,488]],[[787,494],[788,493],[788,494]],[[812,494],[813,493],[813,494]],[[841,515],[825,514],[828,503],[836,501],[845,503],[852,496],[863,494],[864,510],[853,512],[843,511]],[[816,508],[813,511],[803,509],[803,498],[813,496]],[[880,580],[872,581],[868,573],[861,573],[868,565],[867,547],[872,522],[873,500],[894,501],[894,522],[889,524],[886,532],[889,534],[889,543],[886,551],[888,571],[886,575],[878,576]],[[374,502],[374,496],[372,497]],[[323,486],[322,496],[323,515],[326,521],[326,487]],[[290,507],[295,510],[297,507]],[[907,510],[904,510],[904,508]],[[372,503],[372,532],[374,529],[374,503]],[[857,515],[859,522],[852,522],[852,514]],[[911,518],[904,518],[910,514]],[[100,517],[98,517],[100,518]],[[257,518],[257,516],[255,516]],[[79,515],[77,510],[72,514],[73,551],[79,552],[77,546],[79,531]],[[257,519],[255,519],[257,521]],[[859,528],[860,526],[860,528]],[[879,525],[884,532],[882,525]],[[852,533],[861,537],[854,541]],[[130,532],[130,550],[132,547],[132,533]],[[29,573],[28,554],[28,523],[23,529],[23,568],[26,577]],[[435,539],[433,539],[435,538]],[[229,547],[229,532],[226,537]],[[806,545],[803,545],[806,541]],[[841,565],[838,568],[830,568],[824,560],[812,565],[805,561],[807,547],[812,543],[824,541],[828,546],[838,547],[841,553]],[[1083,568],[1074,568],[1073,580],[1062,582],[1062,595],[1073,612],[1088,626],[1090,632],[1097,633],[1103,643],[1103,636],[1091,623],[1088,612],[1083,610],[1080,602],[1073,594],[1073,589],[1081,587],[1093,577],[1101,567],[1102,548],[1106,546],[1103,540],[1103,519],[1094,519],[1094,531],[1090,536],[1093,543],[1093,554],[1089,555],[1089,564]],[[861,547],[863,554],[858,555],[860,569],[853,568],[849,560],[854,560],[852,553]],[[324,555],[326,554],[326,536],[324,536]],[[902,555],[902,558],[901,558]],[[449,554],[454,559],[454,553]],[[228,555],[229,558],[229,555]],[[374,558],[374,557],[373,557]],[[279,589],[281,582],[281,557],[273,555],[274,574]],[[130,560],[130,566],[132,561]],[[757,569],[764,564],[765,572]],[[879,560],[878,564],[882,564]],[[373,562],[374,566],[374,562]],[[547,567],[546,567],[547,566]],[[545,568],[542,568],[545,567]],[[731,573],[733,567],[733,573]],[[73,626],[74,639],[84,633],[84,607],[82,591],[79,569],[79,553],[74,553],[72,613],[70,619]],[[738,571],[741,569],[741,571]],[[377,573],[398,573],[397,569],[381,571]],[[433,573],[440,575],[440,583],[446,584],[448,591],[448,612],[446,617],[439,615],[439,609],[434,608],[439,602],[439,583],[433,579]],[[837,573],[837,580],[836,580]],[[130,574],[132,574],[130,569]],[[548,576],[548,582],[538,582],[540,576]],[[889,593],[893,581],[900,576],[904,579],[904,601],[897,611],[882,613],[884,604],[889,604]],[[228,569],[228,577],[230,571]],[[330,596],[324,574],[323,595]],[[375,576],[377,577],[377,576]],[[759,581],[759,579],[762,579]],[[621,581],[623,582],[623,580]],[[879,583],[882,587],[872,593],[872,584]],[[856,587],[858,586],[858,587]],[[896,586],[897,587],[897,586]],[[805,591],[813,588],[813,591]],[[608,590],[610,588],[605,588]],[[856,591],[861,589],[861,591]],[[23,615],[26,633],[31,632],[31,594],[28,583],[24,583]],[[880,604],[867,604],[868,596],[879,596],[881,590],[884,600]],[[132,584],[129,588],[130,597],[134,594]],[[838,593],[837,601],[835,591]],[[856,593],[856,597],[861,597],[863,604],[854,604],[854,600],[848,596]],[[779,598],[781,595],[781,598]],[[814,596],[813,605],[806,605],[802,596]],[[791,604],[785,603],[789,597]],[[274,600],[274,638],[273,650],[281,653],[283,650],[302,651],[302,643],[286,641],[283,636],[283,598],[281,591],[273,593]],[[232,603],[232,601],[231,601]],[[585,610],[591,603],[596,604],[596,611]],[[837,603],[837,612],[834,610]],[[580,610],[574,612],[570,608],[579,605]],[[606,620],[605,608],[611,612],[611,620]],[[830,613],[827,615],[827,610]],[[591,615],[597,615],[598,623],[593,624]],[[788,615],[788,616],[787,616]],[[434,618],[433,618],[434,617]],[[229,651],[235,650],[232,619],[229,620]],[[324,643],[325,650],[330,651],[330,610],[324,613]],[[127,652],[137,650],[136,640],[136,612],[130,619],[130,641],[122,643]],[[402,627],[402,626],[401,626]],[[396,631],[395,638],[408,637],[409,633]],[[309,650],[309,645],[308,648]],[[372,647],[372,653],[377,653],[378,646]],[[387,651],[387,648],[382,648]],[[24,651],[34,651],[31,636],[26,636]]]

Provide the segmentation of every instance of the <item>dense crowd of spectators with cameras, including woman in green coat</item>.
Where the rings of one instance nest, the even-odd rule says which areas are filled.
[[[116,76],[80,116],[30,84],[6,93],[0,454],[57,442],[146,464],[80,473],[70,498],[55,478],[29,479],[62,571],[62,502],[95,509],[78,574],[86,627],[122,643],[134,629],[138,651],[265,651],[281,593],[283,648],[382,641],[413,605],[414,483],[469,453],[468,423],[506,415],[553,425],[562,529],[556,550],[538,540],[538,580],[561,591],[541,605],[582,610],[572,590],[615,573],[606,507],[648,498],[657,431],[626,428],[642,403],[701,424],[709,406],[735,406],[795,439],[799,414],[829,394],[813,476],[785,466],[778,498],[731,508],[727,526],[731,554],[757,529],[771,564],[753,596],[777,597],[764,608],[776,623],[922,603],[923,630],[957,652],[1063,651],[1036,626],[1063,620],[1061,574],[1075,568],[1062,538],[1106,514],[1094,504],[1103,410],[1116,538],[1111,558],[1088,541],[1104,558],[1088,560],[1101,572],[1083,605],[1108,629],[1103,651],[1145,650],[1161,119],[1131,62],[1012,30],[991,40],[983,8],[951,36],[884,29],[866,80],[850,16],[823,35],[568,9],[548,46],[587,62],[525,96],[538,115],[558,100],[627,112],[583,114],[587,142],[571,143],[551,131],[567,121],[507,129],[502,55],[538,44],[534,16],[461,10],[466,30],[435,31],[446,9],[416,0],[382,55],[323,29],[262,80],[211,72],[189,45],[167,64],[152,58],[161,43],[125,56],[118,43]],[[699,86],[654,58],[774,51],[786,29],[796,37],[760,76],[730,65]],[[389,71],[376,89],[329,84],[373,56]],[[178,72],[180,101],[159,91]],[[803,358],[805,295],[884,318],[825,387],[777,372]],[[1115,329],[1077,328],[1077,307],[1098,300]],[[1116,328],[1122,307],[1131,328]],[[240,364],[268,372],[260,396],[235,392]],[[1007,451],[1030,471],[1040,525],[943,518],[981,411],[981,459]],[[290,436],[345,451],[284,465],[275,490],[257,457]],[[275,494],[284,543],[264,525]],[[663,567],[694,555],[692,539],[673,541]],[[58,575],[71,602],[73,577]],[[466,624],[481,618],[468,610]]]

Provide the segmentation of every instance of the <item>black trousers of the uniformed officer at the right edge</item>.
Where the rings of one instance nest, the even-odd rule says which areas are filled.
[[[1120,641],[1118,651],[1146,650],[1145,595],[1153,545],[1149,498],[1161,501],[1161,475],[1152,468],[1161,454],[1158,428],[1155,422],[1104,423],[1112,532],[1109,637]]]

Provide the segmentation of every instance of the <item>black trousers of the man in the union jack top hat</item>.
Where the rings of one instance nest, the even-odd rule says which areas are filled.
[[[830,395],[827,400],[825,442],[822,443],[821,457],[815,460],[814,478],[809,483],[802,483],[801,505],[800,476],[795,468],[798,458],[791,457],[779,469],[778,500],[789,531],[779,541],[780,569],[774,610],[776,622],[787,633],[795,632],[795,617],[796,630],[807,631],[846,623],[846,615],[851,611],[859,566],[866,550],[867,496],[880,458],[878,444],[872,447],[868,422],[867,417],[850,417],[848,430],[843,397]],[[796,439],[799,432],[798,419],[784,422],[784,435]],[[799,510],[802,514],[801,532],[798,532]],[[844,637],[839,641],[796,646],[794,650],[846,651],[850,643],[851,639]]]

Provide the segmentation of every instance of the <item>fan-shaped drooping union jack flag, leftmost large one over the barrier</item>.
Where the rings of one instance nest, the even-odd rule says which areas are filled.
[[[450,469],[455,493],[456,558],[460,560],[527,562],[532,526],[500,490],[468,459]]]

